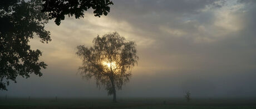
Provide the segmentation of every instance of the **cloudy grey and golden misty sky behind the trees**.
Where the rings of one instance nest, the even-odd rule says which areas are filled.
[[[76,46],[118,32],[137,44],[138,65],[119,97],[256,97],[256,1],[116,0],[107,16],[53,20],[52,41],[31,39],[48,64],[42,77],[18,77],[1,91],[13,97],[108,97],[93,79],[82,79]],[[111,97],[111,96],[109,96]]]

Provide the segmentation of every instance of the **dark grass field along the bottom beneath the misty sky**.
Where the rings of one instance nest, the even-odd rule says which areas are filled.
[[[165,101],[165,103],[164,103]],[[8,98],[0,100],[0,108],[256,108],[256,99],[193,99],[186,102],[179,98],[119,98],[113,103],[111,98]]]

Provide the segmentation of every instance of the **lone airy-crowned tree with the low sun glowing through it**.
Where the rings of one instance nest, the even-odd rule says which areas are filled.
[[[116,89],[129,81],[131,69],[137,64],[134,41],[126,41],[117,32],[99,35],[93,39],[93,46],[77,46],[76,54],[82,59],[82,77],[96,80],[98,87],[104,86],[108,95],[116,102]]]

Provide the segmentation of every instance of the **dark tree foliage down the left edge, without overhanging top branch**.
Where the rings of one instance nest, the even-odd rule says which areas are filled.
[[[42,76],[46,68],[40,50],[31,50],[29,39],[38,35],[42,43],[51,41],[50,32],[45,30],[48,15],[42,13],[42,1],[1,0],[0,1],[0,90],[7,90],[9,80],[16,82],[18,75]]]

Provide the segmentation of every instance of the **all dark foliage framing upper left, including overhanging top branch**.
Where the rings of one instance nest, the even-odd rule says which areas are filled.
[[[50,32],[45,30],[48,19],[57,25],[64,15],[83,17],[87,9],[94,9],[95,16],[110,11],[109,0],[1,0],[0,1],[0,90],[7,90],[9,80],[16,82],[18,75],[42,76],[46,64],[38,61],[40,50],[31,50],[29,39],[38,35],[42,43],[51,41]]]

